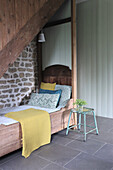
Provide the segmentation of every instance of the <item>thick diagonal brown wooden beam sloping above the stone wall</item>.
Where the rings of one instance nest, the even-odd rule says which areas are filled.
[[[29,42],[54,15],[64,0],[46,0],[43,7],[23,26],[14,38],[0,51],[0,77],[13,63]]]

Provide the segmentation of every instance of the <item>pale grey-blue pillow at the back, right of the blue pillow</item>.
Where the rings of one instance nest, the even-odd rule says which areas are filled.
[[[61,94],[61,98],[59,101],[59,105],[63,105],[63,102],[65,102],[66,100],[69,100],[71,97],[71,91],[72,91],[72,87],[71,86],[67,86],[67,85],[56,85],[55,86],[55,90],[62,90],[62,94]]]

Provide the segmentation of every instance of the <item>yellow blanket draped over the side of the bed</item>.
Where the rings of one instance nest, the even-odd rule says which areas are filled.
[[[5,116],[17,120],[21,124],[23,139],[22,155],[25,158],[35,149],[50,143],[51,126],[48,112],[31,108],[18,112],[10,112]]]

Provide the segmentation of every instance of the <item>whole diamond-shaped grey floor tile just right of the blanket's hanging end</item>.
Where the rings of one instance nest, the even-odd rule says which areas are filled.
[[[79,151],[67,148],[66,146],[55,144],[51,148],[40,152],[38,155],[63,166],[79,153]]]

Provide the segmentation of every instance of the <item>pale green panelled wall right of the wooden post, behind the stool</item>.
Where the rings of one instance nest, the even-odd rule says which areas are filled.
[[[113,0],[78,5],[78,97],[113,118]]]

